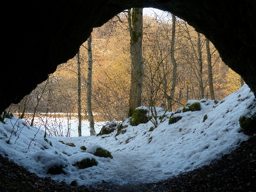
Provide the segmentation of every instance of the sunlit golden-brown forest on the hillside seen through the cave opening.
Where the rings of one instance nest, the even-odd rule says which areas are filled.
[[[79,118],[80,114],[88,120],[91,111],[94,121],[108,122],[131,115],[131,30],[138,20],[133,11],[126,10],[94,28],[90,43],[84,42],[77,56],[59,65],[47,81],[8,111],[31,125],[35,116]],[[184,20],[167,12],[141,18],[143,83],[139,106],[164,102],[168,111],[174,111],[188,99],[221,100],[243,85],[243,79],[223,63],[214,45]]]

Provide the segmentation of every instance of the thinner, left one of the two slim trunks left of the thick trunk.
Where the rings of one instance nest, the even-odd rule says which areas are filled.
[[[78,95],[78,136],[82,136],[82,116],[81,116],[81,67],[80,67],[80,52],[77,52],[77,95]]]

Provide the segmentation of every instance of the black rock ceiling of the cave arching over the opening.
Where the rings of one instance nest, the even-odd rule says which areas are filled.
[[[2,5],[0,110],[19,102],[58,64],[73,58],[93,28],[132,7],[154,7],[186,20],[256,93],[255,0],[33,0]]]

